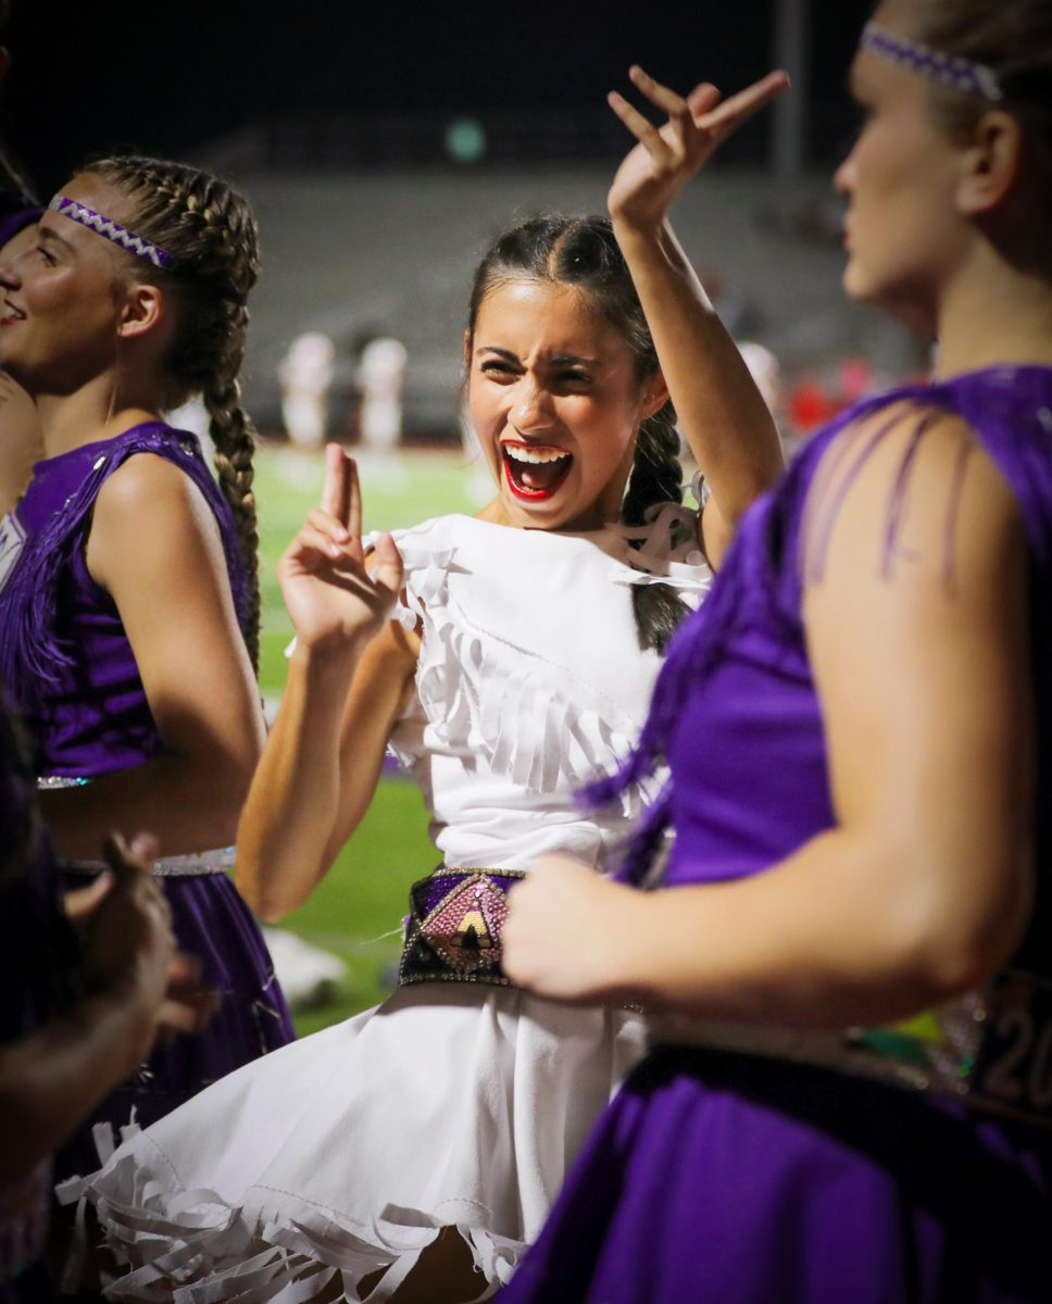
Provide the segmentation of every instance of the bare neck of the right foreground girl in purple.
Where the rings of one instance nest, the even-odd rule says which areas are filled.
[[[970,273],[958,278],[940,304],[939,378],[1001,364],[1052,365],[1048,276],[1000,259]]]

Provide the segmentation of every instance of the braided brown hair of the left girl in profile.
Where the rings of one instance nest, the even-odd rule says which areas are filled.
[[[256,430],[241,407],[237,373],[249,323],[248,293],[259,274],[256,218],[226,181],[183,163],[147,158],[107,158],[85,172],[124,192],[126,224],[175,259],[159,270],[126,254],[134,274],[175,291],[177,327],[167,360],[166,407],[199,394],[209,411],[219,485],[237,524],[248,574],[245,640],[259,665],[259,535],[252,458]]]

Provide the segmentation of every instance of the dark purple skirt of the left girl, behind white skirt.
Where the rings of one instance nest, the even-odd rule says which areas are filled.
[[[82,874],[64,875],[83,887]],[[180,949],[202,965],[201,985],[220,994],[219,1009],[198,1034],[181,1033],[159,1047],[130,1081],[93,1111],[87,1125],[59,1154],[56,1180],[94,1171],[99,1155],[91,1125],[120,1128],[136,1111],[149,1127],[202,1088],[295,1038],[292,1017],[270,955],[249,908],[226,874],[164,876]]]

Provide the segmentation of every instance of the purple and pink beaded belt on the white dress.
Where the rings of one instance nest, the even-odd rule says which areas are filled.
[[[501,969],[507,893],[523,870],[438,868],[409,888],[399,986],[481,982],[511,986]]]

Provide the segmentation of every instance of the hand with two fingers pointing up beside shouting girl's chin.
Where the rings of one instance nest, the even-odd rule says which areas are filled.
[[[310,648],[370,636],[402,589],[402,557],[390,535],[365,556],[357,467],[336,443],[325,450],[321,503],[285,549],[278,579],[296,638]]]

